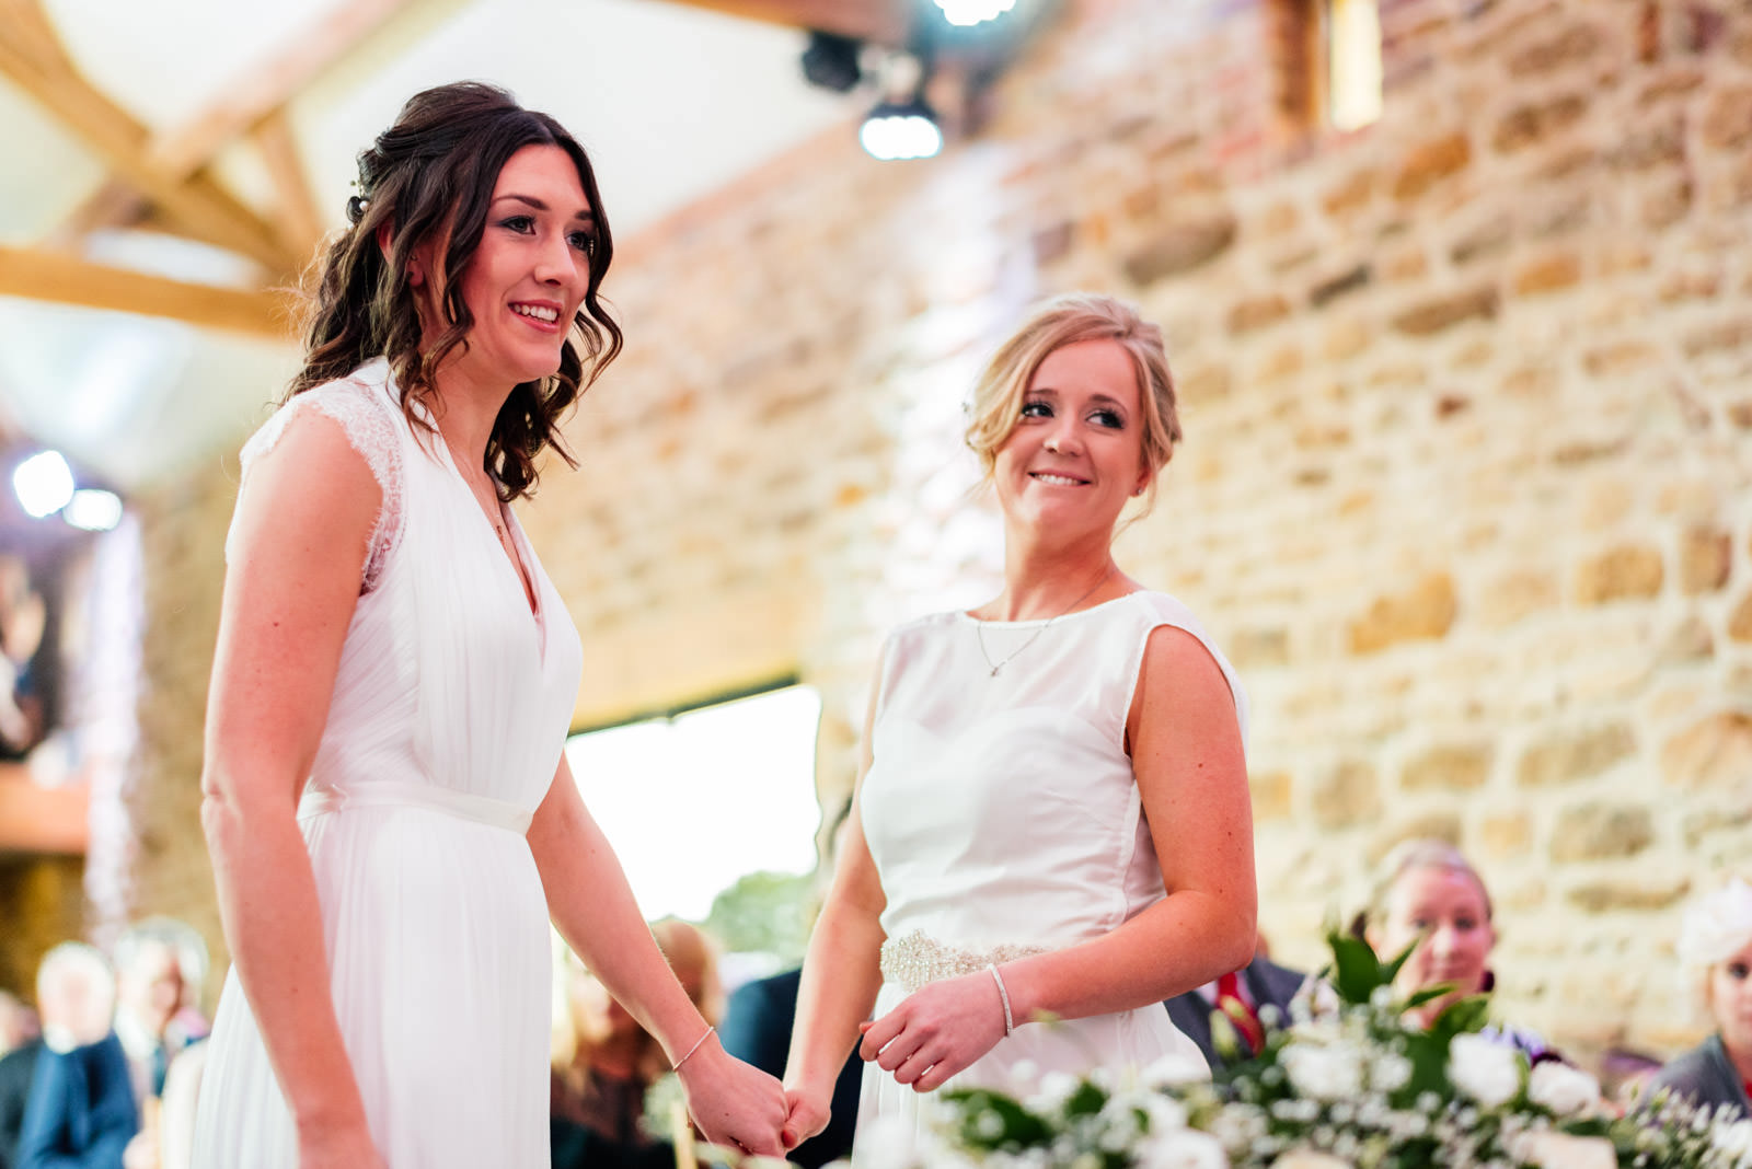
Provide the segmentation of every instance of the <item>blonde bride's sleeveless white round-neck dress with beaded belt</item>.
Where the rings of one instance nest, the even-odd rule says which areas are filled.
[[[1125,752],[1144,644],[1162,625],[1205,644],[1246,733],[1235,672],[1165,593],[1130,593],[1049,623],[943,612],[888,637],[858,802],[887,894],[878,1018],[925,982],[1097,938],[1165,896]],[[992,663],[1002,665],[995,676]],[[995,987],[992,998],[997,1010]],[[1035,1073],[1120,1076],[1167,1055],[1204,1066],[1160,1004],[1016,1022],[946,1087],[1016,1092],[1023,1062]],[[932,1096],[865,1064],[860,1139],[878,1122],[887,1138],[916,1134],[930,1108]]]

